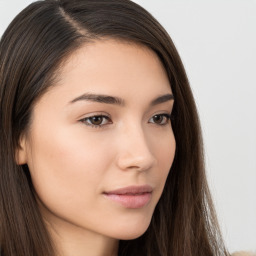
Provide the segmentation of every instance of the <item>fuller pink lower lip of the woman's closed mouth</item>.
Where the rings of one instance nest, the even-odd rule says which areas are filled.
[[[147,205],[151,199],[152,193],[143,194],[104,194],[108,199],[121,204],[122,206],[130,209],[138,209]]]

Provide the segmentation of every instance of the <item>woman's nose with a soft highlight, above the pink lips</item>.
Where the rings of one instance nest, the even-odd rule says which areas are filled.
[[[154,166],[156,158],[150,150],[150,138],[147,139],[141,126],[126,128],[118,137],[119,169],[146,171]]]

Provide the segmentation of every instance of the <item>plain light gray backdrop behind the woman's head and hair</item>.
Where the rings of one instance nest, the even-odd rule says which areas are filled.
[[[29,0],[0,0],[0,35]],[[167,29],[201,117],[228,249],[256,250],[256,1],[136,0]]]

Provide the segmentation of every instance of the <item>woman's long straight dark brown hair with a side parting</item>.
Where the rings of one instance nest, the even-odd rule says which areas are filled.
[[[173,166],[151,224],[120,241],[119,255],[221,256],[198,114],[177,50],[164,28],[129,0],[45,0],[24,9],[0,41],[0,245],[4,256],[54,256],[26,165],[15,162],[38,98],[62,62],[86,42],[114,38],[146,45],[162,61],[175,97]]]

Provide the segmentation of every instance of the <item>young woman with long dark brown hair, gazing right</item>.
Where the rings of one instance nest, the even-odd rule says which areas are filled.
[[[143,8],[31,4],[0,86],[5,256],[228,255],[182,62]]]

